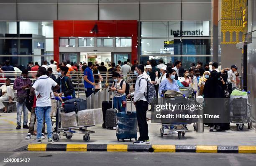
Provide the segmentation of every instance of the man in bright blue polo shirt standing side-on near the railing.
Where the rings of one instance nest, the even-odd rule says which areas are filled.
[[[95,82],[92,74],[92,62],[88,62],[87,68],[84,70],[84,89],[86,90],[86,97],[94,93]]]

